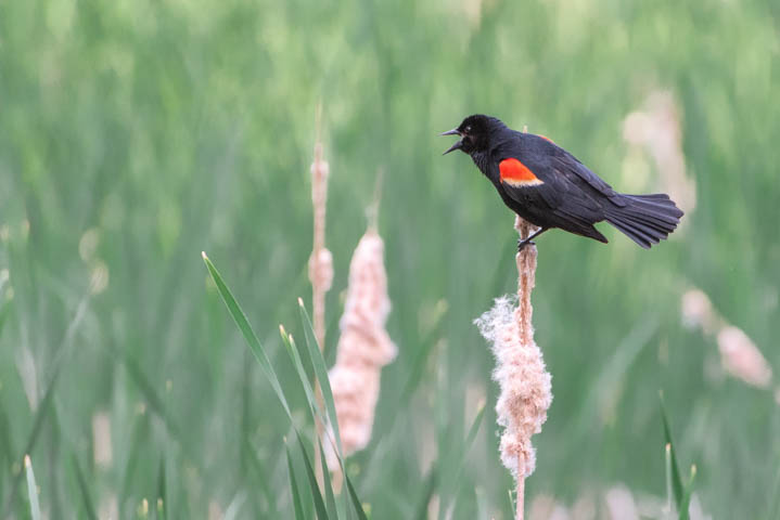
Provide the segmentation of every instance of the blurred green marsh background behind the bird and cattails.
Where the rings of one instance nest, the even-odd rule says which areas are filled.
[[[550,136],[617,190],[667,191],[687,210],[651,251],[604,225],[609,246],[538,240],[536,338],[554,400],[528,504],[544,495],[602,518],[616,485],[665,499],[662,390],[704,511],[780,518],[777,382],[724,376],[714,339],[680,318],[681,295],[700,287],[780,368],[779,31],[770,0],[4,2],[2,515],[28,515],[13,490],[27,452],[51,519],[87,515],[79,473],[92,506],[122,518],[161,493],[170,518],[292,516],[289,421],[200,252],[304,424],[278,325],[303,338],[321,102],[329,362],[385,171],[399,355],[373,440],[348,463],[372,518],[426,510],[431,464],[462,448],[481,400],[460,481],[433,493],[450,518],[511,518],[494,362],[472,321],[514,291],[516,235],[489,183],[468,157],[442,157],[451,138],[437,136],[475,112]],[[93,424],[106,418],[101,463]]]

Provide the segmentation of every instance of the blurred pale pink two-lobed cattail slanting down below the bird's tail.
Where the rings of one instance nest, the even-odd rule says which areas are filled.
[[[768,388],[772,369],[753,340],[740,328],[730,325],[713,308],[701,289],[682,295],[682,323],[689,328],[701,328],[713,337],[720,352],[720,365],[727,374],[757,388]]]

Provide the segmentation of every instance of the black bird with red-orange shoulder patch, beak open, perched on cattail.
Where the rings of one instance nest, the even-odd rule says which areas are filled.
[[[442,135],[460,135],[445,155],[460,150],[498,190],[503,204],[539,230],[552,227],[606,244],[593,224],[608,221],[645,249],[675,231],[682,211],[666,194],[617,193],[572,154],[542,135],[508,128],[476,114]]]

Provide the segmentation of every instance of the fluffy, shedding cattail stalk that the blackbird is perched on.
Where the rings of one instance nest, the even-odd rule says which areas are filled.
[[[530,224],[517,218],[515,229],[527,237]],[[479,333],[490,341],[496,356],[493,378],[500,394],[496,404],[501,434],[501,460],[517,480],[516,518],[523,518],[525,478],[534,472],[536,453],[530,437],[541,431],[552,403],[550,374],[541,350],[534,341],[530,291],[536,277],[536,246],[517,253],[517,308],[509,297],[498,298],[488,312],[476,320]]]

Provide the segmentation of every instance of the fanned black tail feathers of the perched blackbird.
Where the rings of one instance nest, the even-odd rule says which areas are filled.
[[[663,193],[623,195],[621,202],[625,206],[605,208],[606,221],[645,249],[675,231],[683,214]]]

